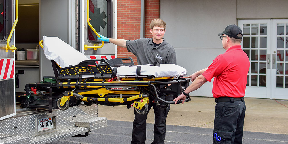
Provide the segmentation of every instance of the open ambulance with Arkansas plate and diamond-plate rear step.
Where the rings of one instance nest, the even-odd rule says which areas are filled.
[[[94,32],[116,38],[115,0],[0,0],[0,143],[49,143],[86,136],[107,126],[98,105],[49,109],[43,103],[21,105],[27,83],[53,77],[51,61],[39,41],[58,37],[89,59],[113,59],[117,47]],[[73,56],[72,56],[73,57]],[[77,57],[75,57],[77,58]]]

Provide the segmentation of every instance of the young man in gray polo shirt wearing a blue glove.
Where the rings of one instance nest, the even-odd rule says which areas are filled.
[[[139,65],[159,63],[176,64],[176,52],[169,43],[163,39],[165,34],[166,23],[161,19],[154,19],[150,24],[150,33],[152,38],[140,38],[136,40],[112,39],[102,35],[98,39],[105,42],[113,43],[117,46],[127,48],[128,52],[132,52],[137,57]],[[153,107],[155,114],[154,124],[154,141],[152,144],[164,144],[166,133],[166,118],[170,110],[170,105],[167,109],[161,110],[156,107],[156,104],[149,101],[148,112]],[[132,144],[145,144],[146,140],[146,119],[147,114],[138,114],[135,110],[135,120],[133,122]]]

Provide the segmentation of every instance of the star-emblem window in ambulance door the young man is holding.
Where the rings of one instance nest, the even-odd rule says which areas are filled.
[[[92,2],[92,3],[91,3]],[[106,0],[90,0],[89,7],[90,24],[97,33],[107,37],[107,1]],[[88,37],[90,41],[97,40],[97,35],[89,27]]]

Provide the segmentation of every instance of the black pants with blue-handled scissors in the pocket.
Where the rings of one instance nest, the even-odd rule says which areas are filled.
[[[245,111],[244,101],[219,102],[216,104],[213,144],[242,143]]]

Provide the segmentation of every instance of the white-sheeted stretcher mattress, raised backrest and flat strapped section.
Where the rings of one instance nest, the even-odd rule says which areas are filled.
[[[54,60],[61,68],[78,65],[80,62],[88,60],[84,54],[75,50],[58,37],[43,36],[43,50],[45,57],[48,60]],[[186,75],[187,73],[185,68],[175,64],[160,64],[160,66],[150,66],[148,64],[117,67],[116,76],[137,75],[137,67],[140,66],[140,75],[175,77],[178,75]]]

